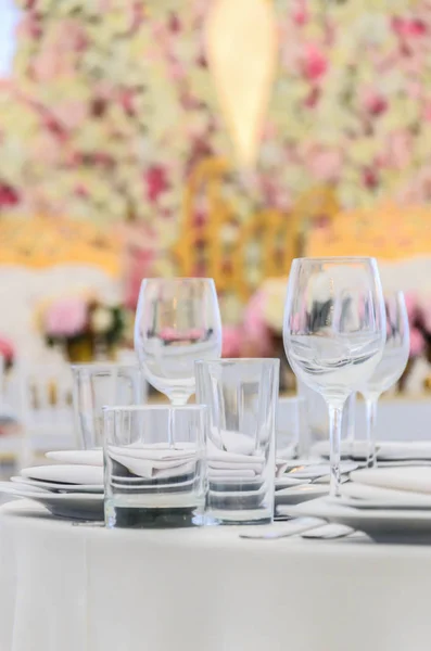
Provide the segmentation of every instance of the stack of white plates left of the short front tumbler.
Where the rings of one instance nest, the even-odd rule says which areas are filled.
[[[0,492],[42,503],[52,514],[103,520],[103,457],[99,450],[48,452],[50,465],[26,468]]]

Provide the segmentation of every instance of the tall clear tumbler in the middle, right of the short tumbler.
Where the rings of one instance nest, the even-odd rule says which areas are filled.
[[[265,524],[274,516],[278,359],[198,361],[197,398],[208,409],[206,516]]]

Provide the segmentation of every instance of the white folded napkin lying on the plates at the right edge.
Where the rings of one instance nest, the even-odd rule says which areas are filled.
[[[372,468],[356,470],[351,480],[357,484],[431,494],[431,468]]]

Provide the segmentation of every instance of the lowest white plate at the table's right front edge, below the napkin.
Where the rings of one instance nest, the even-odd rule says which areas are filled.
[[[379,542],[431,542],[431,511],[404,509],[354,509],[334,505],[328,498],[296,507],[279,507],[282,514],[294,518],[321,518],[364,532]]]

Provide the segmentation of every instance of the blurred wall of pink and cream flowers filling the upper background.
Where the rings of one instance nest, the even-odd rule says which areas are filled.
[[[205,54],[215,1],[21,0],[0,86],[0,210],[140,224],[126,240],[173,271],[160,252],[179,235],[191,170],[232,158]],[[225,183],[228,237],[262,207],[289,220],[317,183],[342,209],[429,201],[431,1],[272,2],[278,72],[255,182]],[[205,220],[205,196],[192,212]]]

